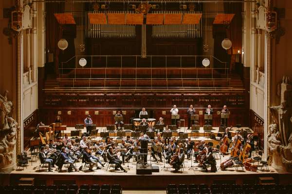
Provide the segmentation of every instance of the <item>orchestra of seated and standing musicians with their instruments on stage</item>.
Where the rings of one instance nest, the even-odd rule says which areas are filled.
[[[176,105],[173,106],[170,112],[172,115],[178,114]],[[189,118],[188,129],[190,129],[190,125],[192,124],[190,116],[195,112],[194,107],[190,105],[187,109]],[[229,111],[227,107],[224,106],[220,113],[229,113]],[[146,109],[143,108],[139,117],[146,114]],[[213,114],[211,105],[208,105],[205,114]],[[115,116],[122,116],[121,111],[117,111]],[[72,169],[74,169],[78,171],[76,162],[79,162],[79,159],[82,158],[82,162],[87,162],[90,165],[90,171],[94,171],[94,166],[96,166],[96,170],[102,169],[107,162],[110,162],[115,164],[114,170],[127,172],[123,167],[125,163],[130,162],[133,158],[133,162],[136,161],[138,163],[147,164],[147,155],[149,154],[153,158],[153,162],[168,163],[175,169],[173,172],[178,172],[181,169],[184,158],[192,162],[192,157],[194,157],[193,162],[198,163],[198,166],[201,166],[204,171],[207,171],[207,167],[210,165],[211,171],[216,172],[217,167],[216,160],[213,157],[213,151],[217,150],[221,154],[227,154],[229,153],[229,146],[232,144],[231,156],[237,158],[241,157],[242,160],[245,160],[251,157],[255,147],[252,134],[248,134],[247,137],[244,138],[241,135],[243,134],[241,130],[240,132],[236,131],[235,135],[232,137],[229,128],[225,129],[222,137],[219,139],[220,150],[215,146],[213,147],[205,143],[204,140],[194,141],[190,136],[182,143],[176,139],[176,136],[173,136],[173,131],[168,128],[168,125],[165,125],[162,117],[158,119],[156,124],[164,125],[163,132],[155,129],[155,122],[153,123],[153,120],[155,119],[142,118],[139,125],[146,126],[146,131],[140,131],[140,137],[136,139],[132,139],[130,135],[127,135],[126,138],[121,138],[119,143],[114,142],[113,138],[110,136],[107,136],[104,141],[101,139],[92,141],[91,136],[88,137],[86,134],[83,134],[81,138],[69,137],[68,134],[65,134],[63,138],[57,137],[56,141],[54,141],[54,138],[50,139],[47,145],[43,145],[43,148],[39,151],[39,157],[42,161],[48,163],[49,171],[52,171],[51,167],[54,167],[55,164],[58,166],[57,170],[61,170],[64,163],[69,164],[68,170],[72,171]],[[62,122],[59,115],[56,117],[55,122]],[[84,123],[86,126],[92,124],[90,115],[86,117]],[[114,124],[120,126],[123,125],[124,122],[120,121],[117,123],[117,121],[115,121]],[[174,124],[173,119],[172,124]],[[212,123],[209,122],[208,124]],[[87,132],[90,133],[88,128]],[[152,134],[152,139],[146,135],[148,132],[154,133],[154,137],[152,136],[153,134],[150,133]],[[172,135],[165,135],[167,133],[172,133]],[[148,149],[150,150],[149,152]],[[121,157],[122,160],[120,160],[119,157]],[[222,162],[220,166],[222,170],[225,170],[227,167],[232,166],[231,164],[233,164],[232,158]],[[101,167],[99,167],[99,165]],[[79,170],[82,170],[82,167],[81,165]]]

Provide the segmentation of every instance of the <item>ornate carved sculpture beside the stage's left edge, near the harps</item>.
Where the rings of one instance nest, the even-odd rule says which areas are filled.
[[[6,172],[16,164],[16,138],[18,123],[9,116],[13,105],[7,100],[7,93],[0,95],[0,171]]]

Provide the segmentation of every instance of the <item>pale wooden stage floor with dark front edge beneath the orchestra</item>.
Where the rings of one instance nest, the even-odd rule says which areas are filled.
[[[227,160],[228,155],[221,157],[221,162]],[[150,155],[148,155],[149,163]],[[219,169],[220,159],[217,156],[217,167],[218,171],[216,173],[203,172],[198,163],[192,164],[191,160],[184,160],[185,167],[183,172],[173,173],[173,169],[169,164],[164,162],[152,162],[152,165],[159,166],[160,172],[152,173],[152,175],[136,175],[136,162],[129,162],[129,168],[127,168],[128,163],[125,163],[123,167],[128,170],[128,173],[123,171],[110,172],[107,171],[107,164],[105,167],[94,172],[71,172],[68,173],[67,169],[63,167],[61,172],[45,172],[45,169],[38,171],[39,160],[37,162],[31,162],[28,164],[27,168],[24,167],[24,171],[15,170],[10,174],[10,183],[17,183],[19,178],[34,177],[35,182],[38,184],[121,184],[124,189],[128,190],[149,190],[149,189],[165,189],[167,184],[212,184],[212,183],[255,183],[259,177],[273,177],[276,181],[278,179],[279,173],[269,166],[269,171],[251,172],[247,170],[235,170],[235,167],[228,168],[225,171]],[[76,166],[79,168],[81,162],[77,162]],[[95,169],[95,167],[94,167]],[[260,167],[259,167],[260,169]]]

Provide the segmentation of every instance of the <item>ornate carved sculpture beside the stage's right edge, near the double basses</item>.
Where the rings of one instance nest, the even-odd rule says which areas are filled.
[[[292,84],[283,77],[281,104],[270,107],[274,124],[269,126],[268,152],[275,169],[292,171]]]

